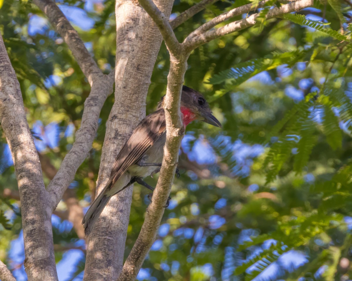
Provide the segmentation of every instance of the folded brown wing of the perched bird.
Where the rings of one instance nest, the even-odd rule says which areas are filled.
[[[115,182],[135,164],[145,152],[166,132],[164,109],[146,116],[133,130],[132,135],[122,147],[113,165],[110,179]]]

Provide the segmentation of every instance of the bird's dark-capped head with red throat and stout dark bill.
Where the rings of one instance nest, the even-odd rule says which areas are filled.
[[[158,108],[163,106],[162,103],[163,100],[159,103]],[[180,110],[185,127],[194,120],[201,120],[221,128],[221,123],[214,117],[205,98],[199,92],[187,86],[182,87]]]

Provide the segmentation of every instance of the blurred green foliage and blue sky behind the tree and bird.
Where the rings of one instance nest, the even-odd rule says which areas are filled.
[[[56,2],[109,73],[114,1]],[[196,2],[176,0],[171,18]],[[177,27],[176,35],[183,40],[201,23],[247,3],[218,1]],[[0,0],[0,6],[0,31],[48,184],[74,142],[90,87],[30,0]],[[269,8],[262,8],[255,26],[191,54],[185,84],[206,96],[223,129],[188,126],[181,177],[138,280],[352,279],[351,6],[349,0],[316,1],[299,15],[268,21]],[[165,93],[168,69],[163,44],[146,113]],[[84,211],[94,196],[113,102],[111,95],[93,149],[69,188]],[[0,259],[26,280],[17,183],[1,134]],[[147,181],[155,185],[157,176]],[[142,226],[147,194],[135,185],[126,255]],[[59,280],[82,280],[84,240],[66,213],[61,202],[52,217]]]

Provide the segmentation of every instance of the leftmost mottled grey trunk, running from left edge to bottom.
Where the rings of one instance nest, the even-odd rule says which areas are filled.
[[[1,35],[0,123],[10,147],[20,192],[28,280],[57,281],[49,194],[27,123],[20,85]]]

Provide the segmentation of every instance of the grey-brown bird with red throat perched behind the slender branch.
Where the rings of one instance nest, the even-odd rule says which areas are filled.
[[[158,103],[156,111],[147,115],[137,125],[116,157],[109,181],[90,205],[83,218],[82,224],[86,236],[91,233],[95,222],[112,196],[134,182],[153,190],[149,184],[143,181],[143,178],[159,172],[161,168],[166,141],[163,100],[162,98]],[[182,86],[180,111],[185,129],[194,120],[201,120],[221,128],[219,120],[214,117],[201,93],[187,86]],[[179,176],[178,170],[176,170],[176,175]],[[165,207],[168,205],[169,200]]]

